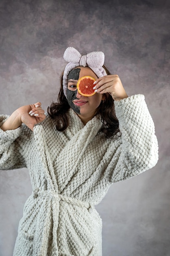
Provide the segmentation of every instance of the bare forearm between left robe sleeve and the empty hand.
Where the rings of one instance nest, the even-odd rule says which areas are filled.
[[[18,114],[17,110],[15,110],[12,115],[0,126],[0,129],[3,131],[6,130],[15,130],[16,128],[20,127],[22,124],[20,115]]]

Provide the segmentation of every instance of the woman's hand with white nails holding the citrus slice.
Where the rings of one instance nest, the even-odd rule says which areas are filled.
[[[107,75],[98,78],[94,82],[94,89],[102,94],[108,92],[115,101],[128,97],[118,75]]]

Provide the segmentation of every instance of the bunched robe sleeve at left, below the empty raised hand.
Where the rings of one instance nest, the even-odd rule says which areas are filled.
[[[0,126],[9,116],[0,115]],[[31,130],[22,124],[15,130],[0,129],[0,170],[26,167]]]

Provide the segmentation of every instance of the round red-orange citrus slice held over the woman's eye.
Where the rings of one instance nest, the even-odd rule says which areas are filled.
[[[92,76],[83,76],[77,82],[77,90],[78,92],[86,97],[94,95],[96,92],[94,91],[94,79]]]

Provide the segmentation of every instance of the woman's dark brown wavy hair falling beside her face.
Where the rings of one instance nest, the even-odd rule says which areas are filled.
[[[111,74],[105,65],[103,65],[103,68],[106,70],[107,75]],[[48,115],[55,120],[56,129],[63,131],[69,125],[68,110],[70,108],[63,92],[63,72],[60,77],[60,83],[58,102],[52,102],[50,107],[48,107]],[[120,132],[119,122],[115,114],[114,100],[109,93],[105,94],[105,100],[101,101],[98,106],[97,114],[103,123],[101,130],[105,133],[106,137],[112,138]]]

